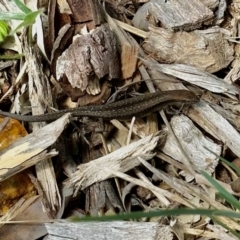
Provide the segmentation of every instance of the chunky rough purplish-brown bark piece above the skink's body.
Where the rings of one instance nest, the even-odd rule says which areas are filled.
[[[103,24],[91,34],[79,35],[62,53],[57,60],[56,75],[60,83],[69,82],[73,89],[68,89],[67,94],[70,97],[74,89],[79,91],[79,96],[84,91],[96,95],[101,91],[100,79],[119,78],[120,66],[116,44],[113,32],[107,24]],[[63,77],[67,79],[64,80]],[[76,96],[75,93],[74,97]]]

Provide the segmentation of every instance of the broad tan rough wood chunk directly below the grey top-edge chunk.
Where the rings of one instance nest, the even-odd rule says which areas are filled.
[[[143,48],[159,62],[186,64],[210,73],[227,67],[234,53],[220,28],[188,33],[150,27]]]

